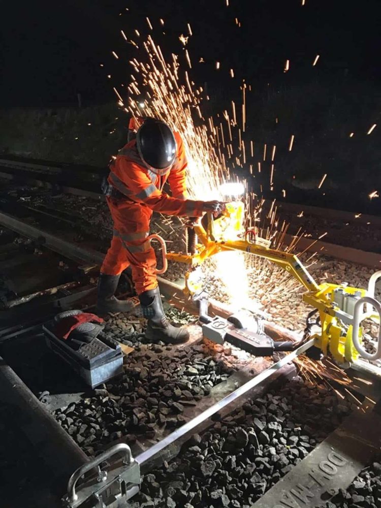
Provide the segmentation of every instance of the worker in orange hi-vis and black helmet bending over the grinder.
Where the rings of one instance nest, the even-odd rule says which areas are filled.
[[[98,283],[98,310],[129,312],[131,304],[115,298],[120,274],[131,266],[143,316],[147,317],[146,337],[151,341],[182,343],[189,338],[183,328],[172,326],[164,313],[155,274],[156,258],[150,242],[152,212],[200,217],[224,210],[219,201],[186,199],[187,160],[180,135],[163,121],[146,118],[136,139],[119,150],[110,164],[107,204],[114,221],[111,246],[106,254]],[[171,194],[163,192],[168,180]]]

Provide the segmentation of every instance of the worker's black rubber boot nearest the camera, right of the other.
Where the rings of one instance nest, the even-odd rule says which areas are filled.
[[[183,344],[189,339],[189,333],[185,328],[177,328],[169,323],[158,288],[145,291],[139,295],[139,300],[143,316],[148,319],[145,331],[145,337],[148,340],[151,342],[161,340],[166,344]]]

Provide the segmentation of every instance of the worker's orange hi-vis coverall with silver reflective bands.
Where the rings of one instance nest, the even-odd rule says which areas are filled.
[[[174,136],[177,154],[164,176],[146,167],[139,156],[136,140],[119,150],[110,165],[108,182],[113,192],[106,199],[114,232],[101,272],[118,275],[131,265],[138,295],[157,286],[155,252],[147,240],[152,212],[189,217],[199,217],[203,213],[203,201],[185,199],[187,160],[180,135],[174,133]],[[162,190],[167,179],[173,197]]]

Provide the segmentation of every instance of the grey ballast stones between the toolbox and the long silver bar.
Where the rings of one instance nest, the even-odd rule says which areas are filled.
[[[183,425],[184,409],[196,410],[234,369],[223,354],[208,355],[203,344],[170,350],[157,344],[137,347],[126,357],[122,376],[93,396],[56,410],[56,420],[88,455],[122,436],[133,443],[154,437],[158,428],[171,431]]]

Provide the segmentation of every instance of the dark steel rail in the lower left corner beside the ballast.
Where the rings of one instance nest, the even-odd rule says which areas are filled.
[[[64,492],[72,472],[88,458],[2,357],[0,401],[15,412],[12,416],[17,426],[35,444],[37,453],[51,467],[57,487]]]

